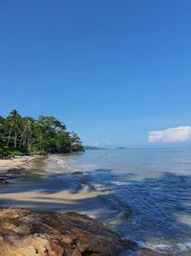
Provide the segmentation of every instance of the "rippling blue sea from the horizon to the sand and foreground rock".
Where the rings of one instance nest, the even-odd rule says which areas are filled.
[[[51,155],[2,193],[67,191],[60,203],[24,201],[23,207],[76,210],[106,222],[124,238],[164,253],[191,255],[191,149],[86,151]],[[95,193],[95,194],[93,194]],[[62,194],[59,194],[62,195]],[[62,197],[62,196],[61,196]],[[35,199],[35,198],[34,198]],[[20,202],[21,203],[21,202]],[[17,206],[18,201],[1,199]]]

